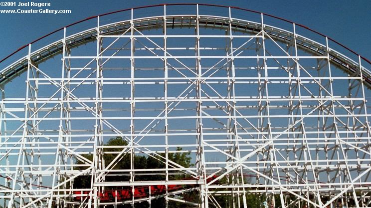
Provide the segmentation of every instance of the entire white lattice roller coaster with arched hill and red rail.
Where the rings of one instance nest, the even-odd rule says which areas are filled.
[[[305,25],[233,6],[66,25],[0,60],[0,205],[370,207],[370,69]]]

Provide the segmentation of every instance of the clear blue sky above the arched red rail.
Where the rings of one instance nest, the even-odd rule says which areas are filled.
[[[34,0],[34,2],[50,2],[51,6],[48,8],[71,9],[72,13],[57,15],[0,14],[1,59],[20,46],[50,31],[88,16],[141,5],[197,1]],[[324,33],[362,56],[371,59],[370,0],[202,0],[198,2],[239,6],[277,15]],[[0,9],[4,8],[10,7],[1,7]]]

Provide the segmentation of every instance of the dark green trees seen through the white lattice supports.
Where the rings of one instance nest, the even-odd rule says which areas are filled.
[[[116,137],[116,138],[111,138],[105,146],[127,146],[128,143],[121,137]],[[124,148],[123,147],[115,147],[115,148],[105,148],[105,151],[109,152],[121,152]],[[182,151],[182,148],[178,147],[178,151]],[[189,156],[190,153],[169,153],[168,158],[169,160],[185,167],[189,168],[192,166],[191,164],[191,157]],[[104,154],[104,161],[105,165],[107,166],[110,164],[117,154]],[[134,157],[134,167],[135,169],[165,169],[166,164],[165,162],[165,154],[161,153],[159,155],[154,155],[151,154],[149,156],[144,156],[144,155],[135,155]],[[86,159],[93,161],[93,155],[92,154],[85,154],[83,155]],[[128,170],[130,169],[130,154],[125,154],[117,162],[117,165],[113,167],[113,170]],[[77,160],[76,164],[84,164],[83,162]],[[86,169],[86,167],[76,167],[75,169],[77,170],[82,170]],[[174,172],[174,171],[173,171]],[[115,174],[128,174],[128,172],[113,172]],[[147,171],[146,173],[151,173],[150,171]],[[152,172],[152,173],[158,173],[158,172]],[[171,171],[170,171],[171,173]],[[188,176],[185,175],[169,175],[169,180],[182,180]],[[151,175],[151,176],[142,176],[142,175],[137,175],[135,176],[135,181],[164,181],[165,175]],[[129,176],[107,176],[105,178],[106,182],[119,182],[119,181],[129,181],[130,177]],[[232,178],[229,179],[229,181],[232,180]],[[248,179],[245,179],[248,181]],[[219,181],[220,184],[226,184],[226,177],[221,179]],[[74,188],[78,189],[89,189],[91,186],[91,176],[80,176],[77,177],[74,180]],[[124,189],[125,187],[110,187],[111,189]],[[106,187],[106,190],[109,189]],[[225,189],[224,191],[227,191],[228,189]],[[229,189],[230,190],[230,189]],[[248,191],[249,189],[245,189]],[[191,202],[196,202],[198,203],[199,196],[198,196],[198,191],[194,192],[188,192],[184,193],[181,196],[173,196],[178,199],[183,199],[185,201],[191,201]],[[219,196],[214,196],[215,199],[218,201],[219,205],[221,207],[229,207],[231,206],[231,203],[233,203],[233,199],[230,195],[219,195]],[[275,196],[277,198],[277,196]],[[234,200],[237,200],[236,198]],[[277,201],[278,200],[278,201]],[[262,208],[263,202],[266,201],[266,197],[264,194],[248,194],[246,195],[246,203],[247,207],[249,208]],[[279,197],[276,199],[276,202],[279,202]],[[236,203],[236,202],[235,202]],[[243,205],[242,203],[242,197],[240,197],[240,205]],[[276,203],[276,207],[278,208],[280,203]],[[213,207],[211,204],[209,205],[210,207]],[[108,206],[111,208],[110,206]],[[130,204],[126,205],[118,205],[118,208],[131,208]],[[142,203],[136,203],[135,204],[136,208],[148,208],[148,202],[142,202]],[[165,198],[159,198],[151,201],[151,207],[153,208],[165,208]],[[169,207],[175,207],[175,208],[185,208],[189,207],[186,204],[179,203],[179,202],[174,202],[174,201],[169,201]],[[112,206],[113,208],[113,206]]]

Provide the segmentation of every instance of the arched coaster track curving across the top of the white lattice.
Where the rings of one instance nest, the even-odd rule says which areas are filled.
[[[163,4],[162,4],[163,5]],[[178,4],[167,4],[167,5],[178,5]],[[188,5],[188,4],[186,4]],[[210,4],[200,4],[200,5],[210,5]],[[153,5],[157,6],[157,5]],[[214,5],[214,6],[219,6],[219,5]],[[148,6],[151,7],[151,6]],[[227,7],[227,6],[221,6],[221,7]],[[142,7],[138,7],[142,8]],[[237,9],[241,9],[238,7],[233,7]],[[127,9],[124,9],[127,10]],[[119,10],[115,12],[110,12],[102,15],[108,15],[116,12],[121,12],[124,10]],[[252,11],[248,9],[242,9],[242,10],[247,10],[247,11]],[[256,12],[256,11],[252,11]],[[101,16],[102,16],[101,15]],[[289,21],[280,17],[272,16],[269,14],[264,14],[268,15],[274,18],[281,19],[283,21]],[[67,25],[71,26],[77,23],[80,23],[82,21],[86,21],[88,19],[95,18],[96,16],[86,18],[84,20],[75,22],[73,24]],[[160,22],[159,19],[163,18],[163,16],[152,16],[152,17],[145,17],[145,18],[137,18],[133,20],[134,27],[137,30],[149,30],[149,29],[159,29],[163,27],[162,22]],[[167,15],[166,20],[167,20],[167,27],[170,28],[182,28],[182,27],[194,27],[196,25],[196,15]],[[223,17],[223,16],[211,16],[211,15],[199,15],[199,26],[200,27],[208,27],[208,28],[215,28],[215,29],[226,29],[228,28],[228,22],[229,17]],[[232,24],[232,29],[234,31],[239,31],[239,32],[244,32],[244,33],[252,33],[252,34],[257,34],[261,30],[261,23],[259,22],[253,22],[253,21],[247,21],[247,20],[242,20],[242,19],[237,19],[233,18],[232,19],[233,24]],[[291,22],[291,21],[289,21]],[[299,26],[302,26],[306,29],[309,29],[310,31],[313,31],[317,34],[320,34],[324,36],[323,34],[316,32],[304,25],[297,24]],[[126,21],[120,21],[120,22],[115,22],[111,24],[106,24],[100,26],[100,34],[101,35],[117,35],[120,33],[125,32],[128,28],[130,28],[131,22],[130,20]],[[294,39],[294,33],[275,27],[271,25],[264,24],[264,31],[270,35],[273,39],[285,42],[289,44],[293,39]],[[36,42],[52,33],[55,33],[63,28],[60,28],[58,30],[55,30],[43,37],[40,37],[36,39],[33,42]],[[326,45],[323,45],[321,43],[318,43],[314,40],[311,40],[307,37],[301,36],[299,34],[296,34],[296,41],[297,41],[297,46],[303,50],[306,50],[314,55],[318,56],[325,56],[327,55],[327,52],[329,53],[329,58],[330,61],[337,65],[339,68],[344,70],[346,73],[349,74],[354,74],[359,71],[359,63],[353,61],[351,58],[347,57],[346,55],[343,55],[342,53],[329,49]],[[95,41],[97,37],[97,28],[91,28],[87,29],[85,31],[70,35],[66,37],[66,45],[69,49],[78,47],[79,45],[86,44],[91,41]],[[327,39],[330,39],[326,37]],[[331,39],[332,41],[335,41]],[[335,41],[336,42],[336,41]],[[337,44],[340,44],[336,42]],[[355,53],[353,50],[345,47],[344,45],[340,44],[342,47],[344,47],[347,50],[350,50],[351,52]],[[25,45],[26,46],[26,45]],[[19,48],[17,51],[23,49],[25,46]],[[0,61],[4,61],[17,51],[13,52],[9,56],[5,57]],[[61,54],[63,51],[63,39],[57,40],[49,45],[46,45],[45,47],[42,47],[34,52],[31,53],[30,59],[34,64],[39,64],[41,62],[44,62],[58,54]],[[355,53],[357,54],[357,53]],[[361,56],[360,56],[361,57]],[[363,57],[362,57],[363,58]],[[363,58],[365,61],[371,64],[371,62]],[[0,85],[4,85],[7,82],[11,81],[14,77],[19,76],[21,73],[23,73],[27,69],[27,56],[24,56],[20,58],[19,60],[15,61],[14,63],[10,64],[9,66],[5,67],[0,71]],[[365,80],[366,85],[371,88],[371,71],[363,67],[363,78]]]

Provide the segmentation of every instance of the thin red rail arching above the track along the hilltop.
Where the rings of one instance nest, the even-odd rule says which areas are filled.
[[[223,7],[223,8],[228,8],[228,7],[230,7],[230,8],[234,8],[234,9],[238,9],[238,10],[243,10],[243,11],[249,11],[249,12],[253,12],[253,13],[263,14],[263,15],[270,16],[270,17],[273,17],[273,18],[276,18],[276,19],[280,19],[280,20],[282,20],[282,21],[289,22],[289,23],[295,23],[295,25],[297,25],[297,26],[300,26],[300,27],[303,27],[303,28],[305,28],[305,29],[308,29],[308,30],[310,30],[310,31],[312,31],[312,32],[314,32],[314,33],[316,33],[316,34],[319,34],[319,35],[321,35],[321,36],[323,36],[323,37],[327,37],[329,40],[331,40],[331,41],[335,42],[336,44],[340,45],[341,47],[343,47],[343,48],[349,50],[350,52],[354,53],[355,55],[360,56],[363,60],[365,60],[366,62],[368,62],[369,64],[371,64],[371,61],[370,61],[369,59],[367,59],[366,57],[361,56],[360,54],[358,54],[358,53],[355,52],[354,50],[352,50],[352,49],[350,49],[349,47],[347,47],[347,46],[341,44],[340,42],[336,41],[335,39],[333,39],[333,38],[331,38],[331,37],[329,37],[329,36],[326,36],[326,35],[324,35],[324,34],[318,32],[318,31],[316,31],[316,30],[314,30],[314,29],[311,29],[311,28],[309,28],[309,27],[307,27],[307,26],[305,26],[305,25],[303,25],[303,24],[299,24],[299,23],[293,22],[293,21],[291,21],[291,20],[288,20],[288,19],[285,19],[285,18],[282,18],[282,17],[278,17],[278,16],[275,16],[275,15],[272,15],[272,14],[267,14],[267,13],[264,13],[264,12],[259,12],[259,11],[252,10],[252,9],[240,8],[240,7],[237,7],[237,6],[225,6],[225,5],[209,4],[209,3],[165,3],[165,4],[154,4],[154,5],[147,5],[147,6],[138,6],[138,7],[134,7],[134,8],[125,8],[125,9],[120,9],[120,10],[117,10],[117,11],[112,11],[112,12],[108,12],[108,13],[103,13],[103,14],[100,14],[100,15],[97,15],[97,16],[90,16],[90,17],[87,17],[87,18],[85,18],[85,19],[82,19],[82,20],[76,21],[76,22],[74,22],[74,23],[68,24],[68,25],[66,25],[66,26],[64,26],[64,27],[61,27],[61,28],[59,28],[59,29],[56,29],[56,30],[54,30],[54,31],[52,31],[52,32],[50,32],[50,33],[48,33],[48,34],[42,36],[42,37],[39,37],[39,38],[33,40],[32,42],[30,42],[30,43],[28,43],[28,44],[26,44],[26,45],[23,45],[22,47],[18,48],[18,49],[15,50],[14,52],[10,53],[9,55],[7,55],[7,56],[4,57],[3,59],[1,59],[1,60],[0,60],[0,63],[3,62],[4,60],[6,60],[7,58],[9,58],[10,56],[14,55],[15,53],[17,53],[18,51],[22,50],[23,48],[27,47],[29,44],[33,44],[33,43],[35,43],[35,42],[37,42],[37,41],[39,41],[39,40],[41,40],[41,39],[43,39],[43,38],[45,38],[45,37],[51,35],[51,34],[54,34],[54,33],[58,32],[58,31],[64,29],[65,27],[67,28],[67,27],[70,27],[70,26],[72,26],[72,25],[78,24],[78,23],[80,23],[80,22],[84,22],[84,21],[87,21],[87,20],[89,20],[89,19],[97,18],[98,16],[105,16],[105,15],[109,15],[109,14],[114,14],[114,13],[119,13],[119,12],[123,12],[123,11],[128,11],[128,10],[131,10],[131,9],[134,9],[134,10],[135,10],[135,9],[140,9],[140,8],[149,8],[149,7],[157,7],[157,6],[164,6],[164,5],[170,5],[170,6],[171,6],[171,5],[197,5],[197,4],[198,4],[198,5],[204,5],[204,6]]]

